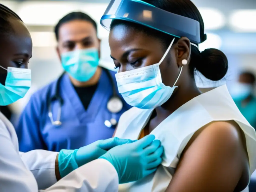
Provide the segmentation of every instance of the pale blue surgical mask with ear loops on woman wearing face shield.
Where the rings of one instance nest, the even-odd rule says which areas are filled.
[[[175,84],[182,72],[182,67],[173,87],[169,87],[162,82],[159,65],[169,53],[173,42],[174,39],[159,63],[115,75],[118,91],[126,103],[141,109],[151,109],[161,106],[171,97],[174,89],[177,88]]]

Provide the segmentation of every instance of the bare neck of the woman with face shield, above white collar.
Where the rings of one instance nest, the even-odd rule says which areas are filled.
[[[159,119],[164,120],[180,106],[200,94],[201,92],[196,87],[195,82],[188,84],[187,86],[178,87],[174,90],[172,97],[166,103],[156,108],[156,116]]]

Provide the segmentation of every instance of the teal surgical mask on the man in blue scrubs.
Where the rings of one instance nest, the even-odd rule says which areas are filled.
[[[79,49],[63,53],[61,63],[71,77],[81,82],[88,81],[99,65],[98,50],[96,48]]]

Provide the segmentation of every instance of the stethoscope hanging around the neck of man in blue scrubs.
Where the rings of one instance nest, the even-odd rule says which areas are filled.
[[[109,101],[107,103],[107,109],[109,110],[109,112],[112,113],[112,118],[109,119],[109,120],[107,119],[104,122],[105,126],[112,127],[112,126],[115,126],[117,124],[117,120],[116,120],[114,114],[118,113],[118,112],[120,112],[122,110],[123,102],[118,97],[118,95],[116,93],[115,83],[114,83],[113,78],[111,77],[111,74],[110,74],[109,70],[107,70],[105,68],[102,68],[102,69],[106,72],[106,74],[107,74],[107,76],[108,76],[108,78],[109,78],[109,80],[111,82],[112,89],[113,89],[113,95],[112,95],[112,97],[109,99]],[[54,126],[60,126],[62,124],[62,122],[60,121],[60,117],[61,117],[61,107],[64,104],[64,100],[63,100],[63,98],[60,95],[60,81],[61,81],[62,77],[64,76],[64,74],[65,74],[65,72],[62,73],[61,76],[57,80],[55,94],[52,97],[50,97],[50,91],[49,91],[48,95],[47,95],[47,98],[48,98],[47,99],[48,116],[49,116],[49,118],[51,120],[51,124],[54,125]],[[58,101],[58,103],[59,103],[59,108],[58,108],[58,113],[57,113],[56,121],[54,121],[53,115],[52,115],[51,102],[53,102],[53,101]]]

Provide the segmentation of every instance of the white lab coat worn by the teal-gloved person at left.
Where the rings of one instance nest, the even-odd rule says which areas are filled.
[[[57,152],[19,152],[15,129],[1,112],[0,143],[1,192],[118,191],[118,174],[105,159],[83,165],[57,182]]]

